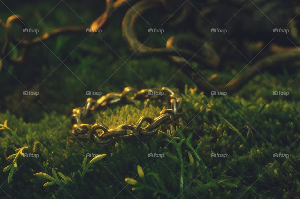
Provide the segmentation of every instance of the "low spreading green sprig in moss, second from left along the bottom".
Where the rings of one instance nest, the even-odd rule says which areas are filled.
[[[62,179],[59,179],[58,178],[58,175],[62,178]],[[53,185],[53,184],[57,184],[57,185],[60,185],[60,186],[64,186],[65,184],[66,185],[69,185],[71,187],[75,187],[76,186],[76,183],[75,183],[75,180],[74,180],[74,175],[75,173],[72,173],[72,177],[68,177],[68,176],[65,176],[63,173],[61,172],[56,172],[54,168],[52,168],[52,176],[48,175],[47,173],[35,173],[33,175],[37,176],[37,177],[41,177],[41,178],[45,178],[47,180],[51,180],[50,182],[46,182],[43,186],[44,187],[47,187],[47,186],[50,186],[50,185]]]

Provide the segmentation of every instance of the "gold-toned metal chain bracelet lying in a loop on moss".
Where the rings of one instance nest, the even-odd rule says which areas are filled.
[[[155,93],[161,92],[163,95],[155,95]],[[129,97],[128,95],[133,95]],[[114,129],[109,129],[105,124],[83,124],[82,119],[85,119],[94,110],[107,106],[109,104],[115,104],[117,102],[125,101],[127,103],[133,103],[138,99],[158,99],[162,96],[167,96],[171,102],[171,109],[164,109],[160,112],[156,118],[150,118],[142,116],[138,122],[133,124],[122,124]],[[101,97],[97,101],[93,98],[88,98],[83,108],[73,109],[73,115],[71,122],[73,124],[73,135],[88,139],[91,142],[97,142],[101,144],[108,143],[113,137],[119,138],[131,138],[141,135],[153,135],[158,132],[160,125],[171,124],[174,120],[178,119],[178,114],[182,108],[182,97],[175,95],[175,93],[168,87],[152,88],[136,90],[132,87],[126,87],[122,93],[108,93]],[[142,124],[146,122],[148,125],[142,128]],[[100,133],[102,130],[103,133]]]

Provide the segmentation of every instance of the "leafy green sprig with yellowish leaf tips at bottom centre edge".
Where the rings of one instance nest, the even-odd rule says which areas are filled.
[[[166,189],[163,180],[161,180],[158,176],[157,173],[147,173],[145,175],[142,167],[140,165],[138,165],[138,175],[141,178],[142,182],[139,182],[133,178],[125,178],[125,182],[133,185],[135,187],[132,188],[132,191],[140,191],[140,190],[150,190],[153,192],[153,197],[156,197],[157,194],[163,194],[165,196],[167,196],[168,198],[176,198],[175,196],[173,196],[172,194],[170,194],[168,192],[168,190]],[[147,178],[147,179],[146,179]],[[147,180],[150,183],[147,182]]]

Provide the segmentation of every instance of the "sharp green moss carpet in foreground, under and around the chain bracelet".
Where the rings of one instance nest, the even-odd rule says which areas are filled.
[[[204,198],[212,197],[212,195],[220,198],[242,195],[241,198],[249,198],[255,197],[256,193],[259,193],[261,197],[280,195],[288,198],[299,193],[297,186],[299,180],[297,172],[295,172],[300,161],[299,147],[297,143],[289,147],[292,140],[296,140],[299,136],[297,133],[299,131],[299,112],[293,108],[292,104],[286,104],[282,101],[267,103],[266,108],[259,115],[259,119],[257,118],[253,123],[252,135],[244,143],[242,138],[238,137],[237,133],[211,110],[222,113],[224,118],[246,135],[248,124],[245,120],[249,122],[254,120],[260,111],[259,106],[249,106],[245,102],[225,97],[209,99],[208,101],[212,101],[207,105],[210,107],[208,109],[204,108],[207,98],[203,94],[197,94],[194,90],[189,90],[186,94],[198,102],[183,95],[184,111],[181,116],[182,119],[179,119],[178,127],[182,129],[186,138],[192,133],[189,140],[207,168],[205,172],[202,172],[203,168],[199,162],[192,163],[194,162],[193,159],[197,159],[197,157],[192,152],[190,153],[191,149],[184,144],[181,151],[184,165],[185,197],[192,198],[196,194]],[[226,105],[226,101],[243,114],[244,119],[233,108]],[[158,115],[163,108],[161,104],[164,103],[148,101],[145,104],[143,106],[142,102],[138,102],[133,105],[115,106],[110,110],[97,112],[92,119],[108,124],[109,127],[116,127],[123,123],[134,124],[141,115],[150,117]],[[261,103],[260,106],[262,105]],[[139,109],[142,106],[143,108]],[[276,114],[279,110],[281,114]],[[201,111],[200,114],[195,117],[199,111]],[[8,113],[0,114],[0,119],[7,116]],[[101,146],[96,143],[76,140],[68,130],[71,129],[69,119],[65,123],[65,127],[61,126],[57,119],[64,121],[67,118],[65,116],[45,115],[45,118],[38,123],[25,123],[22,119],[10,116],[7,125],[11,129],[17,129],[16,134],[20,142],[28,142],[26,135],[30,134],[28,149],[25,149],[25,152],[33,153],[34,142],[38,141],[41,144],[39,147],[36,146],[35,154],[40,156],[38,158],[19,158],[18,164],[22,164],[22,166],[19,166],[12,182],[10,184],[6,182],[2,187],[8,190],[18,187],[20,192],[25,192],[24,196],[27,198],[38,195],[51,197],[51,194],[57,191],[55,196],[58,198],[70,197],[68,192],[72,195],[76,194],[78,197],[91,197],[92,195],[114,197],[124,186],[130,191],[130,186],[127,186],[124,179],[131,177],[138,180],[136,168],[141,165],[141,167],[145,167],[143,168],[145,173],[152,172],[159,176],[169,194],[178,195],[180,172],[177,171],[179,171],[180,164],[175,159],[180,159],[180,157],[178,157],[176,148],[162,139],[167,138],[165,135],[159,133],[152,137],[140,138],[140,140],[137,138],[130,140],[114,138],[112,142]],[[278,121],[281,122],[278,123]],[[172,129],[168,130],[164,127],[161,130],[168,134],[177,135],[178,130],[176,132],[175,129]],[[49,138],[50,135],[52,136]],[[19,147],[18,143],[3,131],[0,143],[5,156],[13,154],[12,151]],[[151,153],[170,154],[175,158],[170,158],[170,155],[164,158],[148,158],[149,149]],[[55,185],[54,187],[51,186],[52,188],[42,187],[47,181],[33,176],[34,173],[44,172],[43,162],[49,161],[50,168],[53,167],[65,176],[72,177],[72,173],[82,170],[82,160],[86,153],[108,155],[101,164],[97,163],[93,166],[93,172],[86,173],[83,181],[80,180],[80,175],[75,174],[74,181],[78,183],[79,187],[77,190],[73,190],[70,186],[64,186],[65,190],[60,190],[60,187]],[[227,157],[212,158],[211,153],[222,153],[226,154]],[[273,158],[274,153],[289,154],[289,158]],[[4,160],[5,158],[3,157],[1,160],[3,168],[11,163],[11,160]],[[50,173],[49,167],[46,169]],[[191,167],[198,167],[198,170],[191,169]],[[204,174],[216,179],[217,187],[206,189],[205,184],[212,181]],[[3,182],[7,178],[7,175],[1,176]],[[256,180],[257,183],[254,183],[251,188],[246,186],[247,184],[250,186]],[[32,187],[31,192],[28,192],[27,186],[20,186],[24,182],[29,183],[29,186]],[[187,185],[189,185],[188,188],[186,188]],[[132,197],[126,189],[123,189],[122,195],[118,195],[119,198]],[[133,194],[137,198],[143,198],[147,196],[148,192],[151,191],[133,192]],[[13,194],[20,197],[17,193]]]

